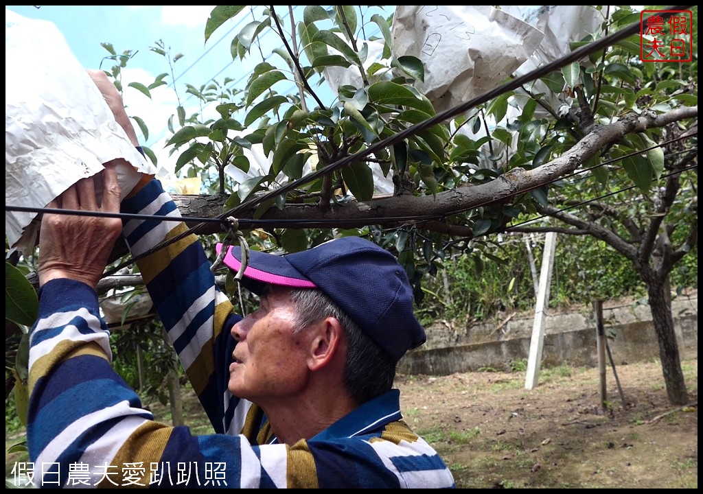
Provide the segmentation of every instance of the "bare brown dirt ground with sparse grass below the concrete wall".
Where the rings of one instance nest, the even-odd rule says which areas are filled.
[[[607,368],[606,407],[595,368],[543,369],[529,391],[525,372],[399,375],[396,386],[459,488],[697,488],[698,360],[682,367],[684,407],[669,404],[659,362]]]

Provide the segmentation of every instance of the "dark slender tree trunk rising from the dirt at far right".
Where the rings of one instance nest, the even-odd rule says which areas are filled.
[[[671,316],[671,297],[668,291],[669,276],[665,280],[651,279],[644,276],[649,294],[650,310],[654,322],[654,332],[659,342],[659,358],[662,360],[662,372],[666,395],[672,405],[685,405],[688,403],[688,392],[681,370],[681,357],[678,353],[676,332],[673,330],[673,316]]]

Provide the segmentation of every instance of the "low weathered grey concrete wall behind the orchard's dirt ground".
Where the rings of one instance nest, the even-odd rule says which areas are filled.
[[[616,365],[659,358],[649,305],[604,304],[605,334]],[[681,358],[698,356],[698,294],[673,299],[674,330]],[[505,316],[503,320],[466,325],[441,320],[427,327],[427,342],[399,363],[406,374],[449,375],[480,368],[510,370],[510,363],[529,356],[534,314]],[[598,365],[593,307],[547,312],[542,364],[553,367]]]

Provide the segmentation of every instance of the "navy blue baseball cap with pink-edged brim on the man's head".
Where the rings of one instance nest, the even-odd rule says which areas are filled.
[[[222,244],[217,244],[217,254]],[[238,272],[240,247],[223,262]],[[396,362],[427,337],[413,311],[413,288],[393,254],[360,237],[342,237],[292,254],[250,251],[242,284],[259,295],[266,285],[324,292]]]

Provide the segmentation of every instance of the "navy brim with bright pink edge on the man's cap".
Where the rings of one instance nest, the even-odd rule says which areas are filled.
[[[215,246],[217,254],[222,250],[222,244]],[[230,247],[222,262],[235,273],[238,273],[241,266],[241,248]],[[278,285],[292,288],[316,288],[311,282],[297,271],[285,259],[285,256],[266,254],[257,250],[249,251],[249,261],[244,271],[244,278],[255,281],[246,283],[247,289],[259,294],[265,285]],[[243,281],[246,281],[243,279]]]

